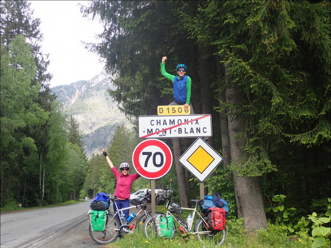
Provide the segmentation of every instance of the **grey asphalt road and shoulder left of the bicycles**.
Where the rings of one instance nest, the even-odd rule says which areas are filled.
[[[89,235],[89,203],[90,200],[70,206],[2,214],[0,247],[104,247]],[[111,210],[113,212],[112,206]],[[130,213],[138,211],[139,208],[130,209]]]

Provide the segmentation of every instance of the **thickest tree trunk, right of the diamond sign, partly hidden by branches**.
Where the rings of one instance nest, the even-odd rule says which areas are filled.
[[[237,92],[237,86],[232,85],[226,90],[227,103],[240,103],[244,99],[243,93]],[[248,156],[242,150],[243,139],[234,139],[236,135],[245,133],[245,117],[235,116],[230,110],[229,115],[229,136],[230,151],[232,161],[239,164]],[[258,177],[238,176],[237,171],[233,171],[234,188],[238,209],[238,218],[244,217],[244,228],[249,232],[257,229],[266,229],[267,221],[264,212],[263,198],[258,181]]]

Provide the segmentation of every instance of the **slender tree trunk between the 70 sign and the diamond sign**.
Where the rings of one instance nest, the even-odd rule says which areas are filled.
[[[173,146],[173,154],[175,157],[180,204],[182,207],[188,208],[189,201],[188,201],[188,193],[187,193],[187,188],[186,188],[186,183],[185,183],[184,167],[178,161],[179,157],[181,156],[180,143],[179,143],[178,138],[172,139],[172,146]]]

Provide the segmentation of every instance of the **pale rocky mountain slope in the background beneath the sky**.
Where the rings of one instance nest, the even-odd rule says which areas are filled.
[[[107,147],[118,125],[132,124],[118,110],[117,103],[108,95],[107,89],[113,89],[112,79],[105,72],[91,80],[81,80],[70,85],[53,87],[57,101],[63,103],[63,112],[79,123],[87,156]]]

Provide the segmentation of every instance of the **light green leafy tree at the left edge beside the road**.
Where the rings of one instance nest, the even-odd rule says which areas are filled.
[[[7,186],[1,190],[1,206],[20,184],[23,161],[37,150],[26,130],[44,125],[48,119],[48,112],[36,103],[40,84],[33,84],[35,74],[24,36],[13,38],[9,51],[1,45],[1,181]]]

